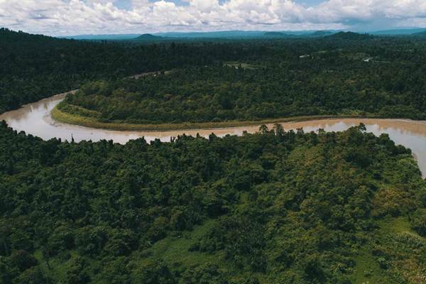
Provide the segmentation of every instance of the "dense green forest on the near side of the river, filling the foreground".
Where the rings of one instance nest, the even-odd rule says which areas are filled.
[[[0,281],[420,283],[425,183],[363,129],[123,146],[1,124]]]

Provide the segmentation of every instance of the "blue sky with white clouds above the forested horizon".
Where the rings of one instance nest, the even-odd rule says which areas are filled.
[[[48,35],[426,27],[426,0],[0,0],[0,26]]]

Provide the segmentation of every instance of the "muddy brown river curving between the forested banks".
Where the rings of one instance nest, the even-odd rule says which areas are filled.
[[[75,141],[101,139],[113,140],[116,143],[126,143],[131,139],[145,137],[146,141],[159,138],[161,141],[170,141],[170,137],[182,133],[195,136],[199,133],[207,137],[211,133],[217,136],[226,134],[241,135],[243,131],[253,133],[259,126],[241,126],[222,129],[193,129],[181,131],[111,131],[104,129],[89,129],[82,126],[62,124],[50,117],[50,111],[65,98],[65,94],[58,94],[40,102],[26,104],[21,109],[8,111],[0,115],[0,121],[5,120],[9,126],[17,131],[25,131],[45,140],[61,138],[70,141],[71,135]],[[426,121],[411,121],[405,119],[321,119],[315,121],[285,122],[285,130],[303,128],[305,132],[317,131],[344,131],[351,126],[366,125],[368,132],[376,135],[388,133],[395,143],[410,148],[417,159],[420,170],[426,175]],[[268,125],[272,127],[272,125]]]

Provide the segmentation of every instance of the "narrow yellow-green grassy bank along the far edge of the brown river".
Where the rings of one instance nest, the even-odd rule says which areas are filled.
[[[75,124],[94,129],[109,129],[114,131],[172,131],[195,129],[218,129],[227,127],[253,126],[260,124],[275,124],[284,122],[312,121],[318,119],[380,119],[381,116],[370,115],[318,115],[318,116],[289,116],[278,119],[262,119],[256,121],[220,121],[220,122],[186,122],[180,124],[125,124],[121,122],[102,122],[94,117],[68,114],[55,107],[50,112],[55,121],[65,124]]]

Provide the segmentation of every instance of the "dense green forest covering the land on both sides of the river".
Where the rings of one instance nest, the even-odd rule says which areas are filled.
[[[425,50],[422,39],[353,33],[143,45],[0,29],[0,113],[80,88],[59,111],[109,124],[425,119]],[[2,284],[425,275],[425,180],[409,149],[362,124],[120,145],[43,141],[0,122]]]

